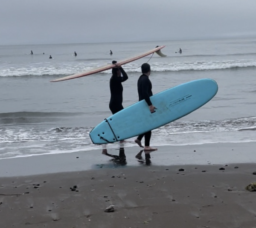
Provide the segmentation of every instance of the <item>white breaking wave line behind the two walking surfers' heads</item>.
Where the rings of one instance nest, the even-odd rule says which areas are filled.
[[[162,61],[162,60],[161,60]],[[70,63],[71,64],[71,63]],[[0,76],[53,76],[53,75],[72,75],[95,67],[102,66],[98,63],[90,63],[84,67],[84,63],[75,65],[63,64],[59,66],[37,66],[36,64],[27,67],[2,67]],[[39,65],[39,64],[38,64]],[[151,69],[154,72],[168,71],[189,71],[189,70],[217,70],[217,69],[239,69],[245,67],[256,67],[256,60],[236,60],[236,61],[187,61],[187,62],[154,62]],[[128,63],[124,66],[127,72],[140,72],[139,63]],[[111,74],[111,70],[102,72]]]

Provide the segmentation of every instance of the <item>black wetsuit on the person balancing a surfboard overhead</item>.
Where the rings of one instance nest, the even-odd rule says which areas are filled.
[[[112,75],[109,83],[111,93],[109,109],[111,110],[112,114],[115,114],[120,110],[124,109],[124,107],[122,106],[122,82],[128,79],[128,75],[126,74],[124,69],[122,69],[122,67],[120,67],[119,69],[121,70],[122,77],[116,77]]]

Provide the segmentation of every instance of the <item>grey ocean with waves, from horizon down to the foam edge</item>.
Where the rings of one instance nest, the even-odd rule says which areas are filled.
[[[138,101],[144,62],[151,65],[153,93],[200,78],[214,79],[219,90],[200,109],[153,130],[152,146],[256,141],[256,38],[0,46],[0,159],[102,148],[92,144],[89,133],[111,115],[111,71],[49,81],[157,45],[166,45],[167,57],[154,54],[123,66],[129,77],[123,83],[124,107]],[[182,54],[175,53],[179,48]]]

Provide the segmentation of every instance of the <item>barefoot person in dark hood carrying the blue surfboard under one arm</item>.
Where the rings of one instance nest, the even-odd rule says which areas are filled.
[[[140,78],[138,79],[138,94],[139,94],[139,101],[145,100],[148,104],[149,111],[151,113],[155,112],[156,107],[151,103],[150,97],[153,95],[152,93],[152,84],[149,80],[149,75],[151,73],[150,65],[148,63],[143,63],[141,65],[141,72]],[[144,137],[145,136],[145,137]],[[137,137],[134,141],[140,146],[143,147],[141,144],[141,140],[144,137],[145,139],[145,150],[157,150],[157,148],[150,147],[150,139],[151,139],[151,131],[148,131],[140,136]]]

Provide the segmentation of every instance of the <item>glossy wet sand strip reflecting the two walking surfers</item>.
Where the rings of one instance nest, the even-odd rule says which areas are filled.
[[[122,148],[121,144],[119,145]],[[151,152],[151,166],[210,165],[256,162],[256,142],[218,143],[186,146],[160,146]],[[119,155],[118,148],[107,149],[109,154]],[[101,150],[84,152],[38,155],[12,159],[0,159],[0,177],[30,176],[47,173],[63,173],[99,168],[129,168],[141,166],[135,158],[140,147],[123,147],[125,162],[105,156]],[[145,160],[145,154],[142,152]],[[112,161],[111,161],[112,159]]]

